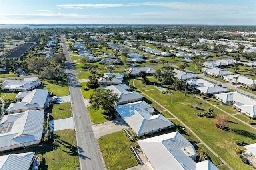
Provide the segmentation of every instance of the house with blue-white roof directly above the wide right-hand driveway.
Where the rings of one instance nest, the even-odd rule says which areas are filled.
[[[161,130],[167,130],[174,125],[162,114],[153,115],[154,109],[145,101],[119,105],[114,108],[137,136],[161,132]]]

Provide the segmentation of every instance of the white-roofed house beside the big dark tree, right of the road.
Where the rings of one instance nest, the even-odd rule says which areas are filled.
[[[140,95],[137,91],[130,91],[131,88],[126,84],[111,85],[106,87],[101,87],[102,89],[112,89],[113,93],[118,94],[118,101],[116,105],[123,105],[126,103],[132,103],[136,101],[143,100],[143,96]]]

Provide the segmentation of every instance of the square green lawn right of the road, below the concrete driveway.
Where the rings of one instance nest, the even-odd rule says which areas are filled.
[[[137,162],[130,151],[136,142],[130,142],[123,131],[101,136],[98,144],[106,167],[110,170],[123,170],[136,166]]]

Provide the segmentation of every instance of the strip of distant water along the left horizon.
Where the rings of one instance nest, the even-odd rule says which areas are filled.
[[[74,25],[70,25],[70,26],[41,26],[41,25],[33,25],[33,24],[0,24],[0,28],[24,28],[24,27],[28,27],[31,29],[35,29],[35,28],[101,28],[102,26],[74,26]]]

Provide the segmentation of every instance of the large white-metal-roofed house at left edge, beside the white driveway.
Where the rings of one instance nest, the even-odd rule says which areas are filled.
[[[4,115],[0,122],[0,152],[41,142],[44,109]]]

